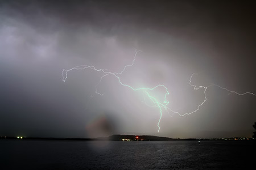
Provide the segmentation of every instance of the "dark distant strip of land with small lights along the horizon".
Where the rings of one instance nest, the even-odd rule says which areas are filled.
[[[68,140],[68,141],[195,141],[195,140],[254,140],[254,138],[231,137],[231,138],[168,138],[154,135],[121,135],[114,134],[108,137],[98,138],[40,138],[40,137],[5,137],[0,139],[19,139],[19,140]]]

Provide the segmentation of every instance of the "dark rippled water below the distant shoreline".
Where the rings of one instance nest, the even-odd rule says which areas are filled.
[[[0,140],[0,169],[246,169],[253,141]]]

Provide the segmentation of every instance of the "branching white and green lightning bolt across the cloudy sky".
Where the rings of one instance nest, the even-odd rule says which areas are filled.
[[[101,95],[101,96],[104,95],[104,94],[101,94],[100,92],[97,91],[97,87],[98,87],[98,85],[101,83],[102,79],[105,78],[106,76],[114,76],[115,78],[117,78],[119,84],[121,84],[122,86],[126,86],[126,87],[130,88],[130,89],[133,90],[133,91],[143,91],[143,92],[146,94],[146,96],[148,97],[148,99],[150,99],[150,100],[152,101],[152,103],[154,103],[154,105],[148,105],[148,104],[146,103],[145,99],[144,99],[144,103],[145,103],[146,105],[150,106],[150,107],[159,108],[160,117],[159,117],[158,124],[157,124],[157,125],[158,125],[158,132],[159,132],[159,130],[160,130],[159,124],[160,124],[160,121],[161,121],[161,119],[162,119],[162,114],[163,114],[162,112],[163,112],[163,109],[165,109],[168,113],[169,113],[169,111],[171,111],[172,113],[179,114],[179,116],[185,116],[185,115],[188,115],[188,114],[195,113],[195,112],[199,111],[199,109],[200,109],[200,108],[203,106],[203,104],[207,101],[207,90],[208,90],[209,87],[216,86],[216,87],[218,87],[218,88],[221,88],[222,90],[228,91],[229,94],[236,94],[236,95],[240,95],[240,96],[246,95],[246,94],[250,94],[250,95],[256,96],[256,95],[253,94],[252,92],[245,92],[245,93],[243,93],[243,94],[240,94],[240,93],[238,93],[238,92],[236,92],[236,91],[231,91],[231,90],[228,90],[228,89],[225,88],[225,87],[218,86],[217,84],[210,84],[209,86],[199,86],[199,87],[197,87],[197,86],[195,86],[194,84],[191,83],[191,82],[192,82],[192,77],[195,75],[195,73],[193,73],[193,74],[191,75],[190,79],[189,79],[189,85],[190,85],[191,87],[193,87],[193,90],[204,89],[204,101],[203,101],[201,104],[199,104],[199,105],[197,106],[197,109],[195,109],[195,111],[192,111],[192,112],[189,112],[189,113],[183,113],[183,114],[181,114],[180,112],[173,111],[171,108],[167,107],[167,105],[170,103],[170,102],[167,100],[167,95],[169,95],[170,93],[168,92],[167,87],[164,86],[163,84],[158,84],[157,86],[151,87],[151,88],[149,88],[149,87],[148,87],[148,88],[134,88],[134,87],[129,86],[128,84],[124,84],[124,83],[121,82],[119,75],[121,75],[121,74],[123,73],[123,71],[126,70],[127,67],[131,67],[131,66],[134,65],[134,62],[135,62],[135,60],[136,60],[136,56],[137,56],[138,52],[142,52],[142,51],[135,49],[135,54],[134,54],[133,62],[132,62],[130,65],[126,65],[125,67],[123,67],[123,70],[122,70],[120,73],[112,73],[111,71],[108,71],[107,69],[96,69],[96,67],[94,67],[94,66],[80,65],[80,66],[73,67],[72,69],[69,69],[69,70],[63,69],[63,70],[62,70],[62,73],[61,73],[61,74],[62,74],[62,77],[63,77],[63,82],[65,82],[65,81],[67,80],[67,78],[68,78],[68,72],[69,72],[69,71],[72,71],[72,70],[92,69],[92,70],[94,70],[94,71],[98,71],[98,72],[104,73],[104,75],[101,76],[100,81],[98,82],[98,84],[96,84],[96,86],[95,86],[95,93],[98,94],[98,95]],[[149,91],[153,91],[153,90],[155,90],[156,88],[164,88],[165,94],[164,94],[164,99],[163,99],[163,101],[159,101],[158,99],[156,99],[156,97],[154,97],[154,96],[152,96],[152,95],[150,94]]]

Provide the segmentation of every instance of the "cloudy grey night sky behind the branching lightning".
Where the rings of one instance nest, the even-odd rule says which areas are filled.
[[[195,111],[218,84],[256,94],[255,1],[1,1],[0,135],[96,137],[114,133],[172,138],[251,137],[256,96],[209,87],[199,111],[179,116],[148,107],[95,70],[121,72],[134,88],[168,88],[168,107]],[[152,92],[163,100],[164,90]],[[152,104],[152,103],[151,103]],[[172,116],[170,116],[170,114]]]

